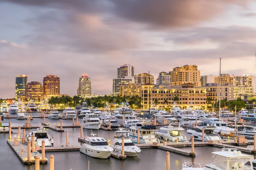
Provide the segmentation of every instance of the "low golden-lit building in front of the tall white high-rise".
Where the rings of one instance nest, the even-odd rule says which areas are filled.
[[[120,96],[141,96],[141,86],[136,84],[126,84],[120,86]]]

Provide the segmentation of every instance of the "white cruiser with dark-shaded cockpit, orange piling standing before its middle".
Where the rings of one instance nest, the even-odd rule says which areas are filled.
[[[221,141],[218,133],[214,132],[215,126],[196,126],[193,129],[187,130],[190,138],[194,136],[195,140],[202,141],[202,129],[204,128],[204,142],[207,141]]]

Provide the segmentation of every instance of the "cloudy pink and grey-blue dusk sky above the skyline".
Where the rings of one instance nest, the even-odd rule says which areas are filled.
[[[111,94],[116,68],[135,74],[198,65],[201,75],[256,74],[255,0],[0,0],[0,98],[15,77],[60,77],[73,96],[88,74]]]

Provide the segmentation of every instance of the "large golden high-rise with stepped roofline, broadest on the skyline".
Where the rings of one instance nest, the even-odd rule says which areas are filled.
[[[185,83],[192,83],[195,86],[201,86],[200,71],[197,65],[184,65],[181,67],[173,68],[170,71],[171,74],[171,85],[182,85]]]

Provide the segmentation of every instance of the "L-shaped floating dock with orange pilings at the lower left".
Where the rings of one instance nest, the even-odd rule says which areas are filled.
[[[17,145],[15,145],[15,140],[17,140]],[[37,150],[35,150],[35,153],[31,152],[31,160],[28,160],[28,153],[27,153],[27,145],[22,144],[21,139],[8,139],[7,143],[12,148],[12,150],[16,153],[16,155],[19,157],[19,159],[22,161],[23,164],[35,164],[35,153],[40,157],[40,163],[45,164],[47,163],[47,158],[45,160],[42,160],[41,153],[38,153]],[[23,150],[23,153],[22,153]]]

